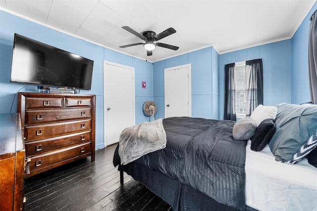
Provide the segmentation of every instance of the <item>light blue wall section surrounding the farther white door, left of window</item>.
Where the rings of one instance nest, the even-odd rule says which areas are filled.
[[[218,53],[207,47],[153,65],[154,101],[158,106],[157,119],[164,117],[164,69],[191,64],[192,117],[219,119]]]

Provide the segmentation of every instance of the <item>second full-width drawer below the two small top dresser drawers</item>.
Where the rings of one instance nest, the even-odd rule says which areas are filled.
[[[74,133],[91,129],[91,119],[43,124],[39,126],[26,126],[24,128],[25,140],[44,139],[48,137]]]

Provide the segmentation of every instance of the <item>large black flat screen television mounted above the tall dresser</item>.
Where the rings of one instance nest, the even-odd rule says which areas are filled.
[[[14,34],[10,82],[91,89],[94,61]]]

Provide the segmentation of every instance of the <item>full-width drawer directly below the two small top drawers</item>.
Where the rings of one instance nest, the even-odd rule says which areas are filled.
[[[25,125],[80,118],[91,118],[91,108],[29,110],[25,112]]]

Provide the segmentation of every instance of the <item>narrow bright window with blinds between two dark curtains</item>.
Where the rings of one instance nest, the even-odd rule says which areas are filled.
[[[242,119],[246,116],[246,62],[236,62],[234,68],[235,82],[235,110],[236,117]]]

